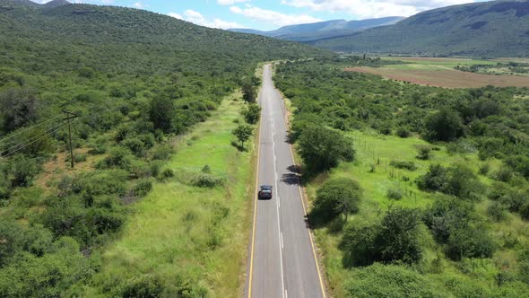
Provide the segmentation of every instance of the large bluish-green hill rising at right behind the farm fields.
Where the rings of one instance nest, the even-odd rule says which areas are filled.
[[[395,25],[308,43],[353,53],[528,57],[529,1],[448,6]]]

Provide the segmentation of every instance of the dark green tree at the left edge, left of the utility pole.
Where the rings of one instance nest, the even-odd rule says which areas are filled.
[[[38,118],[39,100],[30,89],[10,89],[0,93],[0,114],[4,118],[2,128],[11,132]]]

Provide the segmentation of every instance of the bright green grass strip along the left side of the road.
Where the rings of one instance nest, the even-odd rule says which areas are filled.
[[[123,235],[102,250],[102,269],[85,296],[104,296],[106,289],[143,275],[168,283],[183,278],[216,297],[241,294],[254,152],[230,145],[242,106],[239,95],[222,101],[209,120],[178,140],[177,153],[164,166],[175,178],[154,183],[152,192],[132,207]],[[225,179],[223,187],[198,188],[181,181],[206,164]]]

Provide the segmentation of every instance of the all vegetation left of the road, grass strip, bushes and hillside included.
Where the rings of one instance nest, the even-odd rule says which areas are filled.
[[[318,50],[127,8],[1,6],[0,296],[238,295],[258,110],[233,97],[255,94],[258,61]]]

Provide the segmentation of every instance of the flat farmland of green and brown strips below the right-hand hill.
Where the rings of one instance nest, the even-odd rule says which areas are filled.
[[[377,74],[392,80],[445,88],[477,88],[487,85],[497,87],[529,86],[529,76],[474,74],[454,69],[456,66],[495,65],[497,63],[490,60],[444,57],[383,57],[384,60],[400,60],[406,63],[377,68],[349,67],[346,68],[346,71]]]

